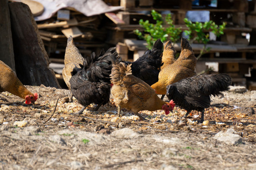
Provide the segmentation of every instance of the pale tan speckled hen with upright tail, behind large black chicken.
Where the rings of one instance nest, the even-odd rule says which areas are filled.
[[[82,57],[79,50],[74,45],[74,41],[72,36],[70,36],[67,40],[67,47],[64,56],[64,64],[65,67],[62,70],[63,79],[70,89],[69,80],[71,78],[71,72],[73,68],[81,68],[79,64],[83,64],[84,58]]]

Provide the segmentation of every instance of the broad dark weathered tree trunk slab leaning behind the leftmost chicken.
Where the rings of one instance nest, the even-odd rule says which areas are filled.
[[[48,68],[43,41],[30,8],[21,2],[9,3],[16,74],[24,85],[60,88],[55,73]]]

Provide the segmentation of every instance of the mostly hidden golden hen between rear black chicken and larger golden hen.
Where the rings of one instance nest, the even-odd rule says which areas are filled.
[[[161,66],[161,70],[164,69],[167,65],[173,64],[176,59],[174,58],[175,49],[172,46],[171,41],[165,42],[163,56],[162,56],[162,62],[164,63],[163,66]]]

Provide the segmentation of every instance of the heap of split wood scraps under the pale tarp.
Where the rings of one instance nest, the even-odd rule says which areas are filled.
[[[50,61],[64,63],[67,38],[71,35],[82,55],[103,48],[107,33],[100,27],[101,16],[86,17],[70,8],[58,10],[44,21],[37,22],[39,34],[44,42]]]

